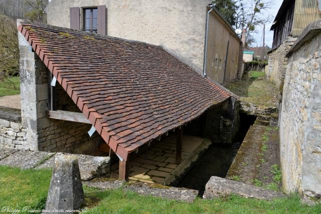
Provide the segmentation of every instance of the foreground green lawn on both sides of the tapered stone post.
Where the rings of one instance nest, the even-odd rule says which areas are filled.
[[[50,184],[49,170],[21,170],[0,166],[0,208],[42,208]],[[194,203],[146,197],[122,189],[85,187],[89,208],[84,213],[321,213],[321,205],[302,205],[297,196],[262,201],[239,196],[214,200],[198,198]]]

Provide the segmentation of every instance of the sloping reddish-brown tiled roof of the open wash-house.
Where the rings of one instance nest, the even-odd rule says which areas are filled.
[[[159,46],[25,21],[18,30],[124,159],[235,96]]]

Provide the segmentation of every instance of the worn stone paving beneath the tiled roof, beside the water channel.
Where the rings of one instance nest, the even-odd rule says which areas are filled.
[[[183,136],[182,163],[204,141],[204,138]],[[176,134],[163,137],[147,151],[129,161],[129,180],[165,184],[164,181],[178,167],[176,157]],[[118,179],[118,162],[111,166],[114,179]]]

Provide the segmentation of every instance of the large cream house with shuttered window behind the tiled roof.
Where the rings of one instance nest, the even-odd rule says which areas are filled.
[[[225,84],[242,76],[241,41],[210,3],[52,0],[45,11],[50,25],[161,45]]]

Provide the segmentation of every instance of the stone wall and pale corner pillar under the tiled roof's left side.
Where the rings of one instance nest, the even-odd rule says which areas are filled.
[[[90,124],[47,117],[48,69],[37,54],[32,52],[22,34],[18,34],[22,98],[21,125],[26,132],[24,149],[68,153],[86,153],[93,148],[97,149],[102,139],[98,134],[88,136]],[[58,83],[56,91],[57,110],[78,110]]]

